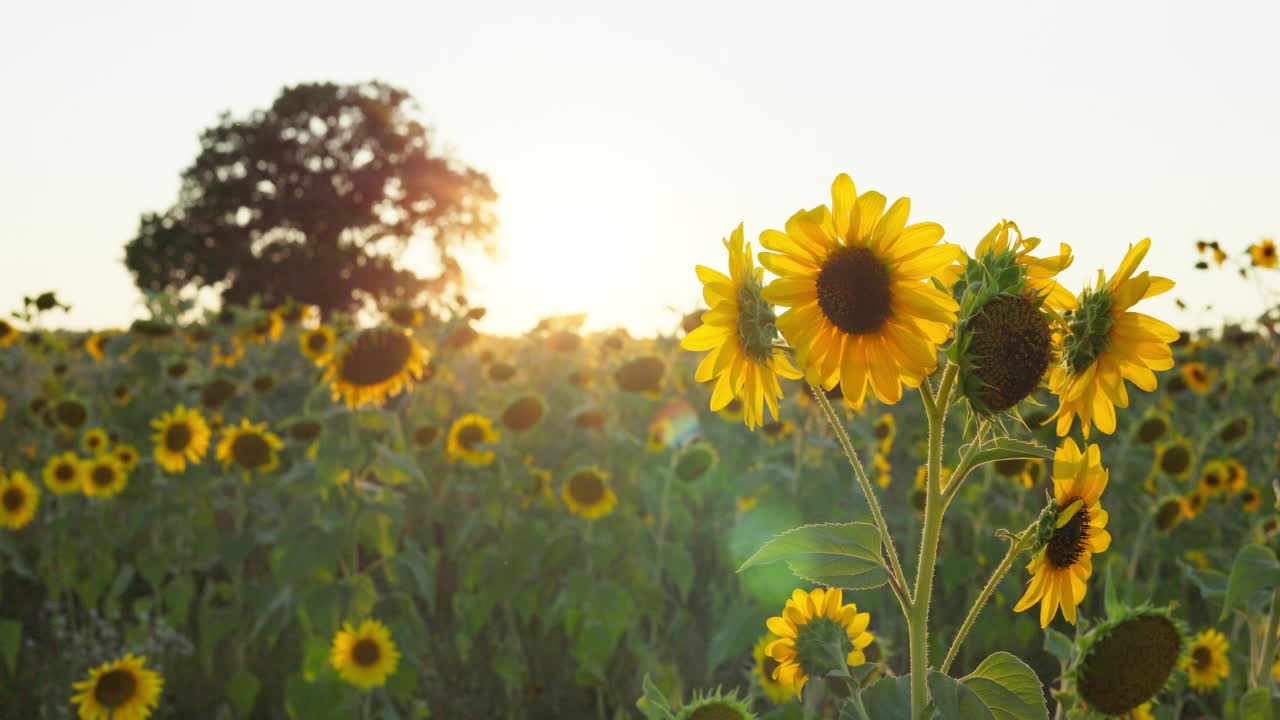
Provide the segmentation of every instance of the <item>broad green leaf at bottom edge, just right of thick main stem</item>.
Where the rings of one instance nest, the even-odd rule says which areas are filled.
[[[1039,678],[1007,652],[991,655],[960,682],[929,673],[929,692],[942,720],[1048,720]]]

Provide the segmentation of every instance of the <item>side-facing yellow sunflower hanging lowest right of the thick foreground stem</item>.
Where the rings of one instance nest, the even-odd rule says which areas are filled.
[[[1098,446],[1084,452],[1068,438],[1053,454],[1053,500],[1041,514],[1039,548],[1027,569],[1032,573],[1027,593],[1014,612],[1041,603],[1041,626],[1047,628],[1057,609],[1075,624],[1075,606],[1084,600],[1085,582],[1093,573],[1092,555],[1111,544],[1107,512],[1098,500],[1107,487]]]

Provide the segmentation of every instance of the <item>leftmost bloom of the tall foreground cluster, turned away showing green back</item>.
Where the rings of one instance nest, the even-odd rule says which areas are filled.
[[[751,259],[751,246],[742,238],[742,225],[724,241],[728,250],[728,277],[698,265],[703,299],[710,310],[703,324],[685,336],[685,350],[710,352],[698,365],[694,378],[716,380],[712,410],[722,410],[732,400],[742,401],[742,420],[755,429],[764,421],[764,407],[778,418],[782,387],[778,377],[797,379],[800,372],[786,351],[773,346],[777,327],[773,307],[762,296],[764,269]]]

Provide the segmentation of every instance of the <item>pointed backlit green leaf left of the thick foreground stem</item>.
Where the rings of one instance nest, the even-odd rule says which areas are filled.
[[[888,582],[879,530],[868,523],[804,525],[778,534],[739,568],[739,573],[787,560],[796,575],[826,585],[869,589]]]

